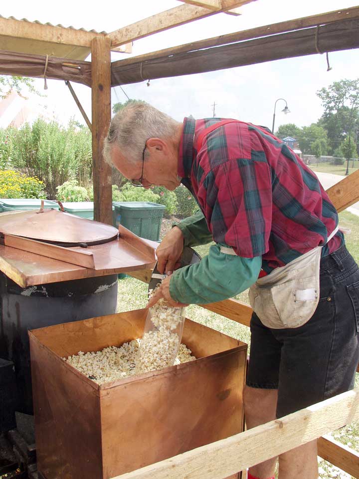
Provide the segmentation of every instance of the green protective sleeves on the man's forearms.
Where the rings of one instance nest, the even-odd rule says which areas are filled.
[[[174,224],[183,233],[185,246],[212,240],[201,211]],[[243,258],[220,251],[225,244],[210,246],[199,263],[178,269],[171,276],[170,294],[182,303],[205,304],[227,299],[251,286],[257,279],[262,257]]]

